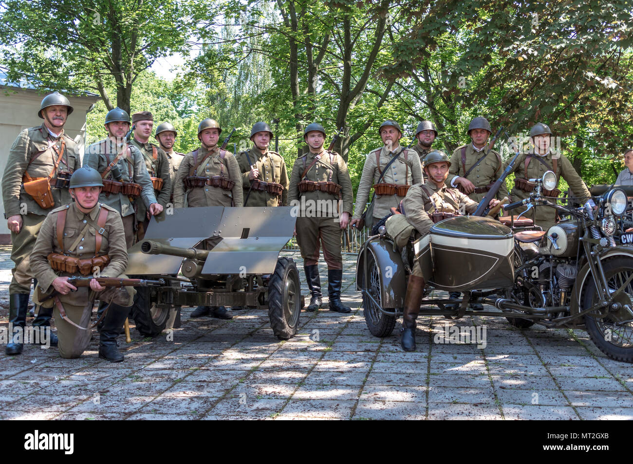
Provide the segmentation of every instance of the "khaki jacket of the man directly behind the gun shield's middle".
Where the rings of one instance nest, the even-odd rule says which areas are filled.
[[[204,161],[200,163],[194,176],[211,178],[211,176],[219,176],[220,173],[223,173],[225,177],[235,182],[231,190],[205,185],[185,192],[185,178],[189,176],[189,171],[196,166],[196,161],[194,161],[196,151],[197,161]],[[218,145],[211,149],[200,147],[196,151],[187,153],[180,163],[173,188],[173,206],[175,208],[217,205],[242,206],[244,203],[242,176],[233,154],[222,150],[224,151],[224,158],[222,158]]]

